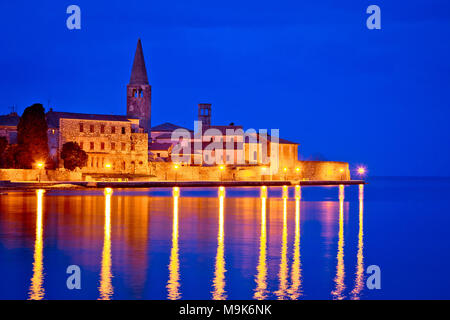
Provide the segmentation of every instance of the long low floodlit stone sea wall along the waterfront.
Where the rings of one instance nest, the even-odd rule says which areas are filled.
[[[150,162],[149,175],[116,174],[111,177],[91,177],[81,170],[24,170],[0,169],[0,180],[9,181],[252,181],[252,180],[350,180],[348,163],[335,161],[298,161],[295,166],[283,167],[277,173],[261,166],[202,167],[178,166],[169,162]]]

